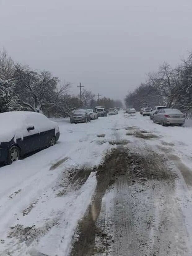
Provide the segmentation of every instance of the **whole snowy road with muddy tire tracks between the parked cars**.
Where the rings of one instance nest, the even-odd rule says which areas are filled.
[[[192,128],[57,120],[60,139],[0,168],[0,255],[192,255]]]

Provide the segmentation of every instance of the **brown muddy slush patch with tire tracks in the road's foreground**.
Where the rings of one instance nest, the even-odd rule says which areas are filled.
[[[178,176],[166,160],[133,143],[107,154],[95,170],[97,187],[70,255],[190,255]]]

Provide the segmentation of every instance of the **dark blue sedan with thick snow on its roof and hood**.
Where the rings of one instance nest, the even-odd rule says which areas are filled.
[[[0,114],[0,162],[11,164],[25,154],[55,145],[59,126],[40,113],[13,111]]]

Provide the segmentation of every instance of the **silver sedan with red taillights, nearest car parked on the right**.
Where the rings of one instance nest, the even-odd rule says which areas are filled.
[[[176,108],[162,108],[153,117],[154,123],[159,123],[162,126],[170,124],[182,126],[185,123],[185,115]]]

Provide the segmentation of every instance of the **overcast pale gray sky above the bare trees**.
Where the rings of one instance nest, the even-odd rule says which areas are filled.
[[[192,51],[191,0],[0,0],[0,49],[15,61],[124,99]]]

